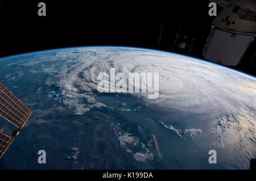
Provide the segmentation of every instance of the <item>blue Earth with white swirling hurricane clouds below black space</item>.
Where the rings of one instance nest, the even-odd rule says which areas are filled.
[[[159,73],[159,97],[98,92],[97,76],[110,68]],[[256,78],[224,66],[79,47],[3,57],[0,80],[33,111],[1,169],[249,169],[256,158]]]

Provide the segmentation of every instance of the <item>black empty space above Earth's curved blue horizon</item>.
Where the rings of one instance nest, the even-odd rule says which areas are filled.
[[[38,16],[39,2],[46,3],[47,16]],[[170,50],[202,58],[214,19],[208,15],[208,4],[207,0],[0,0],[0,57],[62,47],[122,45]],[[196,27],[197,41],[191,53],[173,50],[179,26]],[[255,57],[251,60],[255,49],[254,42],[241,64],[234,68],[256,75]]]

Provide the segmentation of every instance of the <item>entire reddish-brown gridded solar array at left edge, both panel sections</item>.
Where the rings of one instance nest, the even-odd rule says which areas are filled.
[[[18,128],[11,133],[11,136],[0,131],[0,158],[14,140],[14,137],[18,135],[19,130],[22,129],[31,113],[32,110],[0,82],[0,116]]]

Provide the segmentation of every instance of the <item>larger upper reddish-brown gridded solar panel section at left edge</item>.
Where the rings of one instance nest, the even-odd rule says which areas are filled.
[[[0,116],[20,129],[31,113],[32,111],[0,82]]]

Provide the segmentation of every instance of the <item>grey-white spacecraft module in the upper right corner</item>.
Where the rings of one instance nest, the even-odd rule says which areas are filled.
[[[210,1],[223,9],[213,20],[203,56],[223,65],[237,65],[256,35],[256,1]]]

